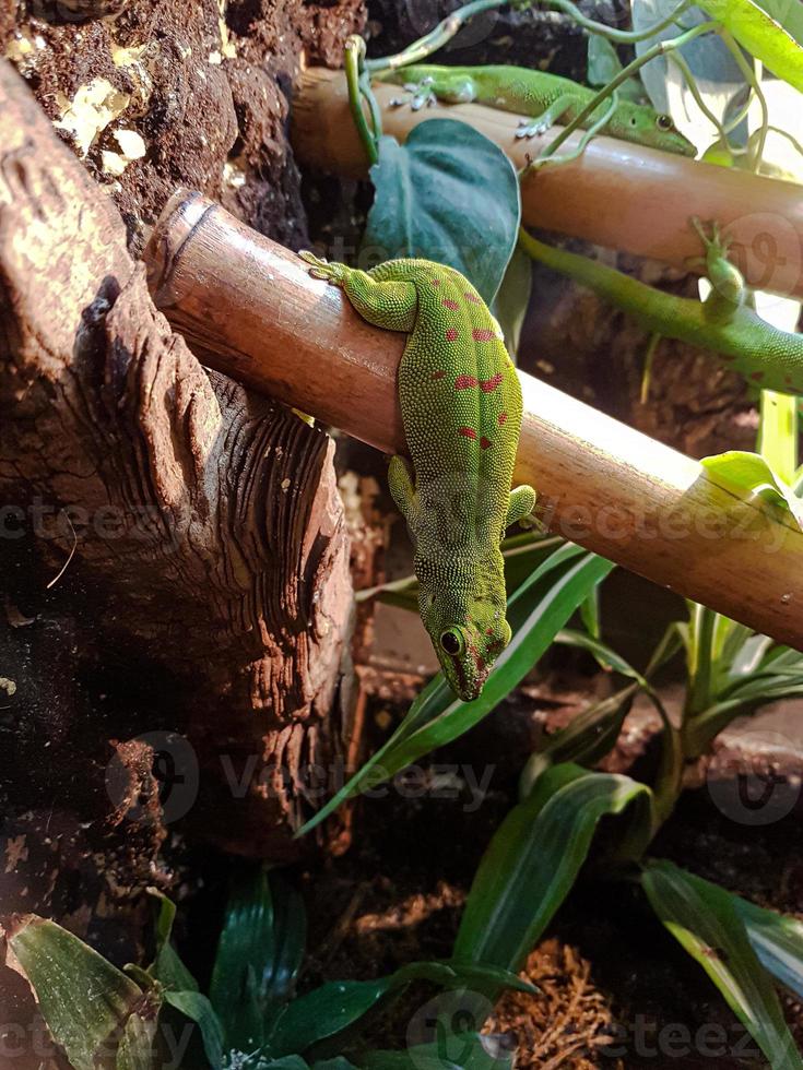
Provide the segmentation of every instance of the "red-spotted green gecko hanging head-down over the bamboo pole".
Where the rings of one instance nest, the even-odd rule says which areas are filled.
[[[522,401],[499,324],[452,268],[410,259],[364,272],[299,255],[364,320],[409,335],[398,382],[412,467],[391,457],[388,483],[415,547],[421,619],[469,702],[510,642],[499,544],[535,506],[532,487],[510,489]]]

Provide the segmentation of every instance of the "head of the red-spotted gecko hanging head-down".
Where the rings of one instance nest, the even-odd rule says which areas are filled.
[[[423,614],[426,629],[452,690],[472,702],[480,697],[494,662],[510,642],[505,609],[491,603],[474,602],[469,611],[449,606],[437,596]],[[424,607],[422,607],[424,609]]]

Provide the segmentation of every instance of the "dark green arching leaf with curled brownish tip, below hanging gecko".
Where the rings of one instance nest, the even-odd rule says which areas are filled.
[[[605,815],[637,804],[629,839],[650,832],[651,794],[628,776],[556,765],[513,807],[491,841],[469,893],[454,958],[519,970],[574,884]]]

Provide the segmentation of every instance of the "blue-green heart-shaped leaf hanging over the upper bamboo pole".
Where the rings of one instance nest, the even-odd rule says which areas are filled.
[[[465,122],[428,119],[400,145],[379,139],[363,251],[423,257],[471,280],[489,305],[516,246],[521,205],[513,165]],[[493,191],[493,193],[489,193]]]

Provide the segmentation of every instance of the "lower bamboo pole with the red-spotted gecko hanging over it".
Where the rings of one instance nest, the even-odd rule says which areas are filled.
[[[404,336],[373,328],[292,252],[179,192],[145,253],[156,304],[203,359],[386,453],[404,450]],[[803,647],[803,533],[695,461],[519,373],[517,483],[553,531]]]

